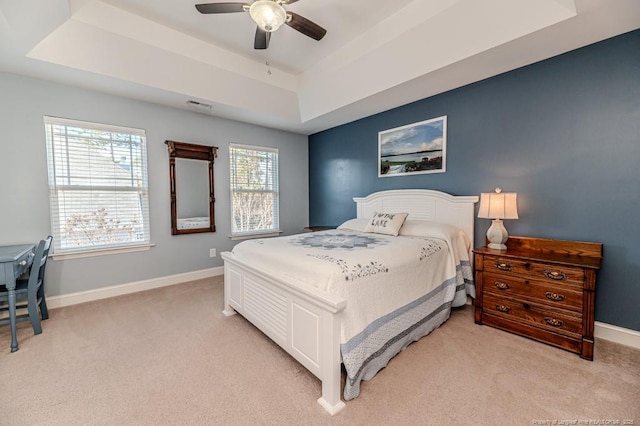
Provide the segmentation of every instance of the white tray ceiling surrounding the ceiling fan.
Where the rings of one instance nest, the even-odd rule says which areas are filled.
[[[205,2],[0,0],[0,70],[311,134],[640,28],[638,0],[299,0],[325,38],[258,51]]]

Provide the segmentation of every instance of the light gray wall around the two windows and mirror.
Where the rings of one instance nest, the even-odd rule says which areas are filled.
[[[308,224],[307,137],[0,73],[0,245],[36,242],[50,232],[43,115],[146,130],[151,242],[149,251],[50,261],[47,294],[61,295],[222,265],[230,250],[229,143],[280,149],[280,225]],[[215,233],[171,235],[167,139],[220,149],[215,164]]]

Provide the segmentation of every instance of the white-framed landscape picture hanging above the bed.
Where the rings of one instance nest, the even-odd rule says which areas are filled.
[[[378,177],[444,173],[447,116],[378,133]]]

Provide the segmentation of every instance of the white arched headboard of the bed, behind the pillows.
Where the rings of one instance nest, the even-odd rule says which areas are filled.
[[[471,249],[474,242],[474,204],[478,197],[455,196],[430,189],[394,189],[374,192],[366,197],[355,197],[357,217],[370,218],[374,212],[409,213],[407,219],[431,220],[447,223],[462,229]]]

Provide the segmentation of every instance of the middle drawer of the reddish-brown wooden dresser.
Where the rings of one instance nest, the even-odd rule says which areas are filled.
[[[515,275],[489,273],[484,274],[483,280],[483,289],[488,293],[495,293],[500,297],[525,297],[534,303],[582,313],[582,291],[575,287]]]

